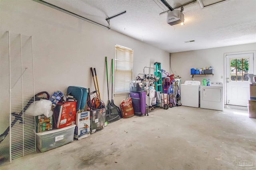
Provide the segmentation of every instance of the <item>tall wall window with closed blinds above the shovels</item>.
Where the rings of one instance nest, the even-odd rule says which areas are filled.
[[[116,45],[115,94],[127,93],[132,81],[133,49]]]

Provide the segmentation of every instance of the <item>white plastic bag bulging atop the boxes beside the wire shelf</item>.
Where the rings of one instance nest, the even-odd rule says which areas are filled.
[[[50,117],[53,115],[52,102],[45,99],[35,101],[35,103],[32,103],[28,109],[26,109],[26,113],[32,116],[45,115],[46,117]]]

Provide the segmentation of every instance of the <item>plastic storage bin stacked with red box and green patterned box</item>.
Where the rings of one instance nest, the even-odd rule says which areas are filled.
[[[75,121],[76,102],[56,104],[51,117],[36,116],[36,147],[45,152],[74,141]]]

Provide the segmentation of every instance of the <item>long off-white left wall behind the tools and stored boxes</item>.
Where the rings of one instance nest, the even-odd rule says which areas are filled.
[[[66,92],[68,86],[94,90],[92,67],[97,70],[101,98],[106,103],[105,56],[108,57],[108,68],[111,68],[116,44],[134,49],[134,78],[143,73],[144,66],[152,66],[154,62],[160,62],[162,68],[169,69],[168,52],[32,0],[0,0],[0,23],[0,133],[9,124],[8,39],[5,36],[8,30],[32,36],[35,93]],[[114,98],[115,104],[119,105],[126,97]]]

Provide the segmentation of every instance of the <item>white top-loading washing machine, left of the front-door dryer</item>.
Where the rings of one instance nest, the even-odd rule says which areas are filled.
[[[180,103],[182,106],[199,107],[200,81],[185,81],[180,85]]]

